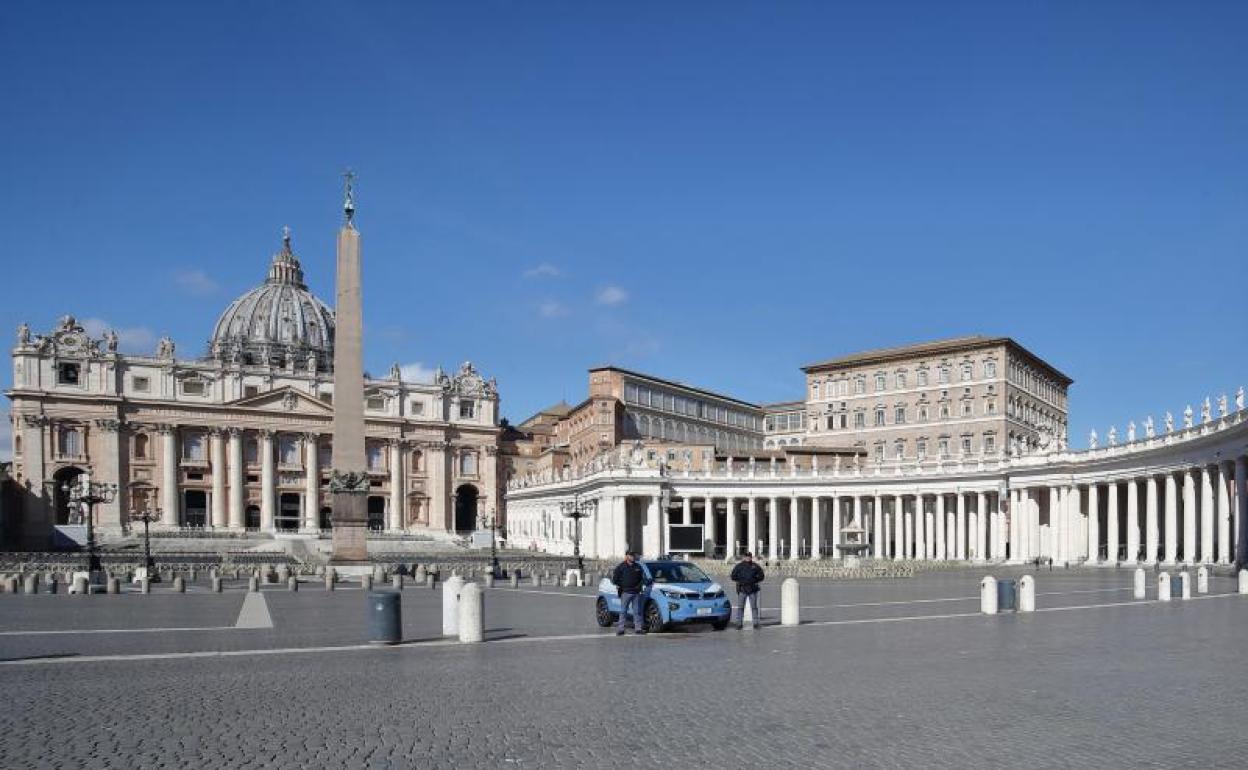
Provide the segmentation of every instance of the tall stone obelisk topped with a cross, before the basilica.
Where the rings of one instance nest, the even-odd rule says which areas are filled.
[[[364,461],[363,311],[359,287],[359,231],[356,230],[354,175],[346,175],[344,220],[338,230],[333,333],[333,499],[334,564],[368,560],[368,473]]]

